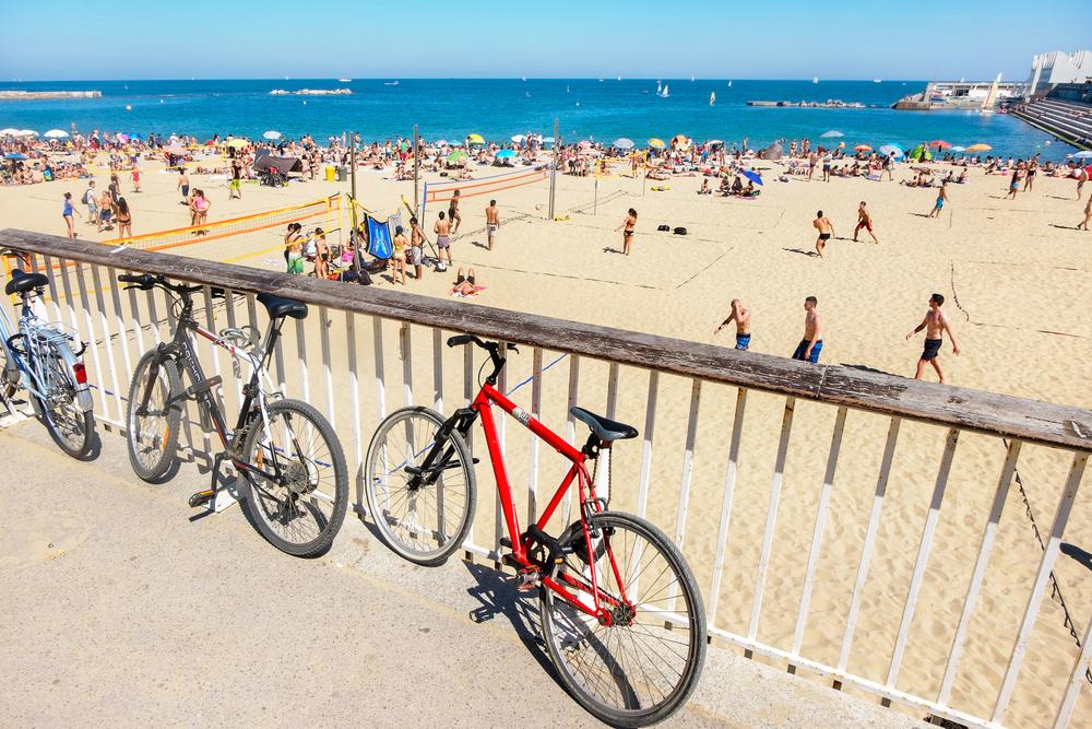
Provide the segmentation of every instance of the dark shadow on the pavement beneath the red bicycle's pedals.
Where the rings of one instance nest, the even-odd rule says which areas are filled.
[[[538,589],[521,592],[515,589],[515,580],[492,567],[473,562],[465,562],[466,571],[474,577],[476,585],[466,593],[482,603],[470,613],[475,623],[484,623],[503,615],[512,624],[515,635],[526,647],[544,671],[549,673],[554,682],[562,690],[554,668],[554,662],[546,654],[542,640],[542,630],[538,613]]]

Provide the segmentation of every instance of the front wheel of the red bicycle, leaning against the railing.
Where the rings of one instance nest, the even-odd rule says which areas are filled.
[[[474,465],[459,433],[442,440],[443,419],[402,408],[379,425],[365,459],[368,507],[382,540],[420,565],[447,562],[474,515]]]

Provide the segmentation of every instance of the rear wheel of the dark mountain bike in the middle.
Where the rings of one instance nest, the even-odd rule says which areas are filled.
[[[324,554],[345,519],[348,469],[329,421],[298,400],[266,407],[250,425],[244,458],[251,521],[273,546],[298,557]]]

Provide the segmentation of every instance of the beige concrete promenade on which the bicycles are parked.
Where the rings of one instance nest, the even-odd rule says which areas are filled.
[[[193,518],[195,465],[152,486],[99,436],[80,462],[33,420],[0,430],[0,725],[595,724],[507,577],[416,567],[352,514],[330,554],[294,560],[238,508]],[[924,725],[713,648],[665,726]]]

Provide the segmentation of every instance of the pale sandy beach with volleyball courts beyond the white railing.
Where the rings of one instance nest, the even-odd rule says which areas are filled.
[[[486,250],[484,209],[490,197],[464,199],[462,226],[452,244],[455,267],[473,267],[478,283],[486,286],[466,306],[492,306],[566,319],[589,321],[684,340],[734,345],[733,332],[713,330],[728,314],[732,298],[741,299],[752,311],[751,349],[788,356],[803,332],[805,296],[818,298],[823,317],[824,348],[820,362],[843,364],[899,376],[913,376],[924,334],[913,341],[904,336],[924,317],[929,295],[942,294],[962,348],[953,356],[946,340],[942,363],[953,385],[1036,400],[1092,408],[1092,362],[1083,348],[1092,340],[1092,322],[1085,310],[1092,302],[1092,233],[1075,230],[1085,198],[1076,199],[1076,183],[1040,176],[1032,192],[1002,199],[1008,178],[986,176],[972,169],[965,185],[949,186],[949,202],[939,219],[928,219],[936,197],[934,189],[898,184],[911,176],[907,165],[895,172],[897,181],[838,178],[831,183],[792,179],[775,181],[782,167],[756,161],[765,185],[755,199],[710,198],[697,195],[700,177],[676,177],[653,183],[621,175],[577,178],[559,176],[557,211],[567,220],[546,220],[547,185],[496,193],[501,226],[492,251]],[[942,168],[942,165],[938,165]],[[132,209],[136,235],[188,224],[187,209],[175,191],[177,176],[146,164],[143,192],[129,193],[122,174],[122,192]],[[620,171],[620,167],[619,167]],[[489,174],[483,168],[479,175]],[[380,216],[394,211],[400,196],[413,197],[413,183],[393,181],[389,172],[361,169],[357,179],[359,199]],[[96,176],[105,187],[107,176]],[[191,175],[212,202],[210,221],[281,208],[347,192],[346,183],[308,181],[272,189],[245,184],[241,200],[228,200],[224,180]],[[439,181],[435,175],[425,179]],[[654,185],[664,191],[653,191]],[[26,187],[0,188],[0,227],[25,228],[63,235],[61,198],[82,196],[85,184],[63,180]],[[865,232],[852,240],[856,209],[867,201],[879,244]],[[85,214],[82,205],[80,211]],[[629,208],[638,211],[631,256],[620,255],[621,233],[614,232]],[[423,227],[429,237],[435,213],[430,207]],[[816,232],[811,226],[822,210],[835,226],[827,256],[811,255]],[[686,227],[687,235],[656,232],[661,224]],[[95,227],[76,219],[81,238],[107,240]],[[283,271],[277,250],[283,228],[252,234],[239,240],[194,244],[171,252],[217,260],[238,259],[240,264]],[[272,252],[271,252],[272,251]],[[426,270],[424,280],[412,278],[399,286],[407,293],[448,296],[454,270]],[[343,284],[348,285],[348,284]],[[380,277],[377,285],[391,287]],[[319,352],[319,317],[308,319],[301,330],[308,352]],[[348,387],[344,372],[346,338],[344,317],[332,313],[328,333],[332,342],[335,388],[341,402]],[[419,403],[434,400],[431,346],[426,330],[411,329],[413,376]],[[383,328],[387,410],[404,398],[396,327]],[[371,332],[359,337],[357,346],[370,356]],[[289,338],[290,339],[290,338]],[[404,340],[403,340],[404,343]],[[324,401],[321,368],[311,366],[300,381],[294,367],[294,349],[285,342],[285,376],[289,391],[302,387]],[[287,353],[293,355],[288,356]],[[446,355],[459,363],[459,353]],[[556,353],[544,353],[550,363]],[[565,432],[566,392],[572,360],[561,361],[544,375],[542,420]],[[531,372],[531,353],[510,361],[508,383],[522,381]],[[580,361],[579,401],[602,410],[606,398],[607,365]],[[929,371],[927,378],[935,380]],[[295,381],[294,381],[295,380]],[[463,373],[451,366],[444,372],[444,408],[462,395]],[[225,388],[230,389],[230,388]],[[619,420],[644,430],[649,374],[622,369],[618,388]],[[299,395],[299,390],[296,390]],[[366,412],[376,412],[375,388],[361,388]],[[655,456],[649,489],[648,515],[668,533],[677,527],[677,504],[691,383],[664,377],[660,381],[655,420]],[[530,387],[513,399],[530,402]],[[755,392],[749,396],[743,436],[743,458],[736,487],[727,558],[721,583],[721,599],[711,623],[747,634],[759,544],[769,506],[778,432],[785,402]],[[712,555],[724,483],[727,438],[736,392],[705,386],[700,391],[690,504],[684,551],[695,568],[702,590],[712,580]],[[97,401],[96,401],[97,404]],[[819,487],[830,447],[834,409],[798,403],[785,471],[784,491],[776,525],[775,550],[763,600],[760,639],[788,648],[807,553],[811,540]],[[346,443],[353,424],[347,408],[339,405],[335,425]],[[810,618],[804,635],[805,656],[834,665],[845,625],[848,592],[857,568],[865,526],[876,486],[876,474],[889,421],[878,415],[851,412],[842,458],[839,461],[830,520],[817,571]],[[372,421],[363,424],[364,446]],[[527,480],[527,439],[518,428],[507,431],[507,448],[513,483]],[[902,425],[891,485],[885,505],[877,552],[869,573],[854,649],[848,668],[876,681],[887,678],[891,648],[902,615],[910,574],[914,567],[922,525],[929,505],[946,433],[916,423]],[[582,437],[579,435],[578,437]],[[349,447],[346,447],[349,450]],[[939,689],[943,663],[959,620],[974,554],[977,552],[1001,462],[1004,447],[993,438],[964,434],[960,437],[954,466],[941,509],[936,540],[929,556],[925,584],[912,624],[910,650],[898,685],[922,695]],[[1021,484],[1041,531],[1048,529],[1070,456],[1045,448],[1025,447],[1020,460]],[[614,467],[614,505],[637,508],[640,442],[622,444]],[[559,475],[554,461],[543,460],[539,481],[554,483]],[[1085,487],[1089,477],[1085,475]],[[476,540],[491,529],[492,478],[479,467],[479,508]],[[518,487],[521,492],[521,486]],[[525,505],[521,508],[525,509]],[[980,608],[971,625],[953,702],[958,708],[986,714],[996,695],[1026,592],[1017,586],[1030,584],[1042,554],[1024,503],[1016,485],[1010,491],[997,548],[986,575]],[[1092,551],[1092,507],[1078,498],[1066,533],[1066,542]],[[1092,583],[1088,567],[1063,555],[1056,568],[1067,603],[1073,610],[1078,632],[1088,620]],[[781,607],[783,611],[781,610]],[[779,613],[783,612],[783,616]],[[1057,603],[1044,601],[1041,619],[1028,650],[1025,669],[1018,682],[1006,725],[1047,726],[1048,714],[1064,691],[1077,655]],[[1092,698],[1084,691],[1073,726],[1092,721]]]

